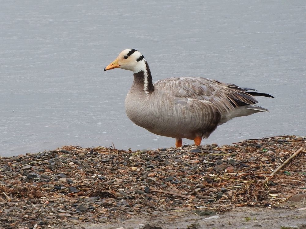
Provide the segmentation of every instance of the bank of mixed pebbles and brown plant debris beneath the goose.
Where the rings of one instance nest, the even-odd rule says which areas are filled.
[[[305,146],[304,137],[281,136],[220,147],[64,146],[0,157],[0,228],[86,228],[175,212],[211,217],[245,206],[286,208],[288,198],[305,193],[305,150],[270,174]]]

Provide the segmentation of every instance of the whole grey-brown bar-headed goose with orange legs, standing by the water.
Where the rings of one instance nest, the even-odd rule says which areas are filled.
[[[268,110],[256,106],[254,96],[274,98],[254,89],[195,77],[162,79],[153,84],[144,56],[125,49],[104,71],[122,68],[133,71],[134,82],[125,98],[127,116],[136,125],[161,136],[182,138],[201,144],[218,125],[232,118]]]

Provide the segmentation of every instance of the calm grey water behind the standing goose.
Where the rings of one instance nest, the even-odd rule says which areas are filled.
[[[0,155],[174,146],[125,115],[132,72],[103,72],[127,48],[144,54],[155,81],[206,77],[275,97],[258,98],[269,113],[235,118],[203,144],[303,136],[305,12],[304,0],[2,0]]]

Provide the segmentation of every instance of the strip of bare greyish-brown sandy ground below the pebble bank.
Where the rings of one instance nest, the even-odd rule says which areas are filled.
[[[285,207],[285,209],[284,209]],[[279,209],[237,207],[224,213],[212,216],[200,216],[201,210],[187,212],[171,212],[166,215],[149,217],[132,217],[120,223],[84,224],[86,229],[126,229],[141,228],[141,224],[149,224],[152,228],[162,229],[196,229],[196,228],[262,228],[291,229],[306,228],[306,200],[286,202]],[[139,225],[140,224],[140,225]]]

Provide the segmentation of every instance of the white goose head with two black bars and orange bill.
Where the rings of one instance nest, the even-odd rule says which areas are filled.
[[[146,68],[144,55],[142,55],[136,49],[125,49],[112,63],[104,68],[104,71],[114,68],[122,68],[133,71],[134,73],[143,71]]]

